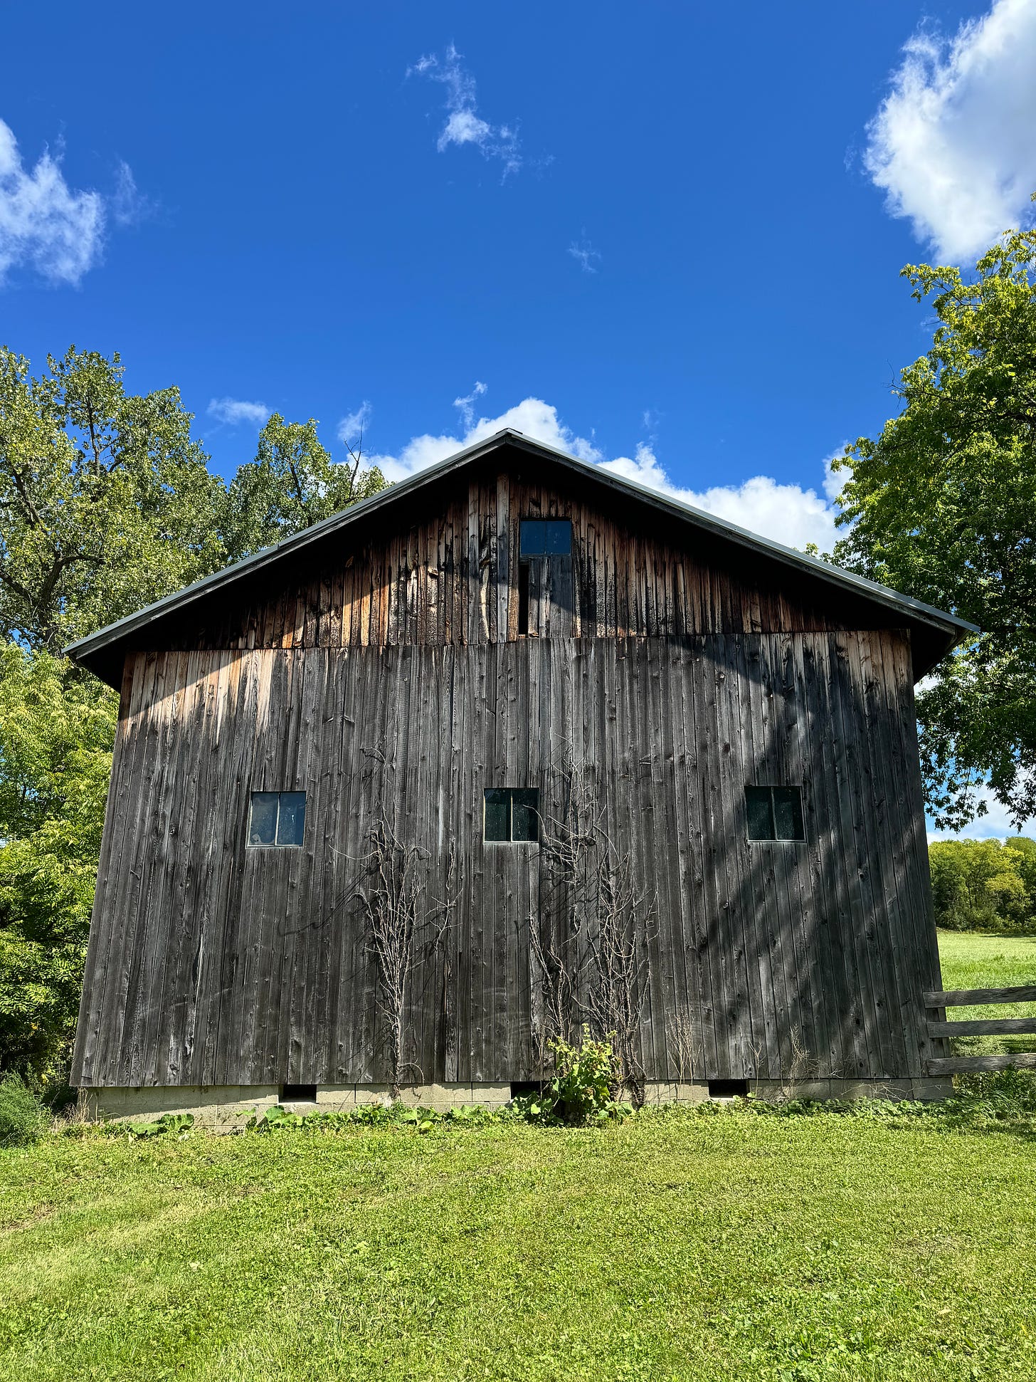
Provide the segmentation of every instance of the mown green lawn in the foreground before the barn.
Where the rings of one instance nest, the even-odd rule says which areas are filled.
[[[47,1137],[0,1379],[1032,1379],[1035,1168],[942,1117]]]

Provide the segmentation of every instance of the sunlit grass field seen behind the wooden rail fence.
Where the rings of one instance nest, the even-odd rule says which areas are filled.
[[[1036,938],[1029,936],[978,936],[971,931],[939,931],[943,988],[1013,988],[1036,984]],[[948,1007],[950,1020],[966,1017],[1036,1017],[1036,1003],[995,1003]],[[1036,1050],[1036,1036],[959,1036],[959,1054]]]

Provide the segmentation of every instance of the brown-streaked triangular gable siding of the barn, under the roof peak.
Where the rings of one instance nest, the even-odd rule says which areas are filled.
[[[428,511],[431,506],[431,513]],[[680,637],[870,629],[873,604],[805,580],[745,549],[658,513],[606,506],[501,470],[443,481],[421,509],[391,510],[311,549],[301,571],[257,578],[232,605],[213,597],[192,609],[170,644],[181,648],[340,648],[506,643],[518,637],[522,518],[569,518],[566,561],[533,562],[529,633],[550,637]]]

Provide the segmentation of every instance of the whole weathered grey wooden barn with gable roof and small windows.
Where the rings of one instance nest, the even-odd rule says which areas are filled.
[[[500,1103],[588,1024],[649,1099],[941,1092],[913,685],[967,629],[514,431],[102,629],[73,1083]]]

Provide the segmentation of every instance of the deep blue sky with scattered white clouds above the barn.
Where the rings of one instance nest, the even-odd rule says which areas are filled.
[[[272,409],[390,474],[506,420],[829,545],[899,268],[1036,187],[1036,0],[59,11],[4,11],[0,340],[180,384],[224,474]]]

